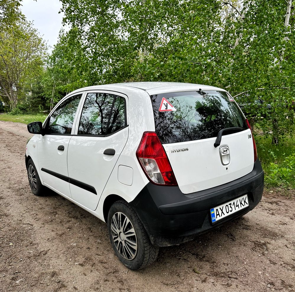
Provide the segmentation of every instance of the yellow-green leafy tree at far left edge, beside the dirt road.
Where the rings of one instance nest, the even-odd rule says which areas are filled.
[[[40,74],[46,46],[31,22],[0,32],[0,96],[13,109],[32,77]]]

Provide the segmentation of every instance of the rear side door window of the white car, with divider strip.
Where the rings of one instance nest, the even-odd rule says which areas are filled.
[[[125,98],[109,93],[88,93],[78,134],[106,135],[126,126]]]

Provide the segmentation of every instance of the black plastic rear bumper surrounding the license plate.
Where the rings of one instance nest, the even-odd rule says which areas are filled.
[[[257,159],[246,176],[221,186],[192,194],[179,187],[147,184],[130,202],[155,246],[169,246],[190,241],[196,235],[238,218],[261,200],[264,173]],[[224,219],[211,222],[210,209],[248,194],[249,207]]]

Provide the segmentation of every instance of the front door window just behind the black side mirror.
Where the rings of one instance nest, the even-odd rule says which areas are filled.
[[[71,134],[82,94],[63,101],[49,119],[48,134]]]

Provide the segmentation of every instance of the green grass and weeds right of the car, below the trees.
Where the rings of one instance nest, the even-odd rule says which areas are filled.
[[[265,186],[295,189],[295,136],[284,137],[279,145],[271,137],[255,135],[258,157],[265,172]]]

